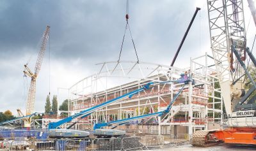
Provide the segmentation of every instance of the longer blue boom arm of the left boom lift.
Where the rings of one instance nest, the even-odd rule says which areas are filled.
[[[132,92],[129,92],[127,94],[124,94],[123,96],[119,96],[119,97],[116,97],[114,99],[111,99],[109,101],[106,101],[105,103],[102,103],[102,104],[98,104],[96,106],[93,106],[92,108],[88,108],[86,110],[83,110],[79,113],[76,113],[75,115],[72,115],[70,117],[67,117],[66,119],[62,119],[58,122],[50,122],[49,123],[49,129],[59,129],[60,126],[62,124],[65,124],[67,122],[71,122],[72,120],[74,119],[78,119],[78,118],[81,118],[83,119],[84,117],[87,117],[88,115],[92,114],[94,111],[100,109],[100,108],[103,108],[104,106],[107,106],[108,104],[111,104],[111,103],[115,103],[116,101],[120,100],[120,99],[124,99],[125,97],[129,97],[131,98],[134,94],[138,94],[139,92],[143,91],[143,90],[148,90],[148,89],[152,89],[152,87],[156,86],[156,85],[159,85],[159,84],[162,84],[162,83],[171,83],[171,82],[180,82],[180,83],[188,83],[190,82],[191,80],[172,80],[172,81],[165,81],[165,82],[148,82],[146,85],[144,85],[143,87],[141,87],[140,89],[137,89],[137,90],[134,90]],[[152,85],[152,87],[150,87]],[[166,109],[166,110],[170,110],[170,106],[168,106],[169,108]],[[162,113],[162,112],[161,112]],[[76,122],[74,123],[76,124]],[[72,124],[71,126],[68,127],[68,129],[72,126],[74,126],[74,124]]]

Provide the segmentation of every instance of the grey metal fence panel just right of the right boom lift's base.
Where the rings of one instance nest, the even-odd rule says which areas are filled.
[[[143,139],[141,137],[132,136],[122,139],[123,150],[142,149],[143,147]]]

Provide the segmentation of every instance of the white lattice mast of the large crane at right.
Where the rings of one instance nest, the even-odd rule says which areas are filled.
[[[233,57],[231,38],[236,41],[241,59],[245,61],[246,35],[242,0],[207,0],[211,49],[214,57],[221,94],[227,114],[232,113],[232,96],[235,90],[243,90],[241,76],[244,71]],[[236,82],[234,85],[231,83]]]

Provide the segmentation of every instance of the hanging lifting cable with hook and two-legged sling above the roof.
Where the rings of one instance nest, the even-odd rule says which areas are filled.
[[[129,22],[128,22],[128,19],[129,19],[129,0],[126,0],[126,15],[125,15],[125,18],[126,18],[126,25],[125,25],[124,37],[123,37],[123,41],[122,41],[122,45],[121,45],[121,50],[120,50],[120,54],[119,54],[119,57],[118,57],[118,62],[120,61],[120,57],[121,57],[121,54],[122,54],[125,33],[126,33],[127,29],[129,29],[131,40],[132,40],[132,44],[133,44],[133,48],[134,48],[134,51],[135,51],[135,54],[136,54],[136,57],[137,57],[137,62],[139,63],[138,54],[137,54],[137,51],[136,51],[136,47],[135,47],[135,44],[134,44],[134,41],[133,41],[133,38],[132,38],[132,32],[131,32],[131,29],[130,29],[130,26],[129,26]]]

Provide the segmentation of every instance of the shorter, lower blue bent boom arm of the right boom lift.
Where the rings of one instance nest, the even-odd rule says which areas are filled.
[[[186,81],[186,83],[190,82],[190,80]],[[164,113],[169,113],[171,108],[172,108],[172,104],[176,101],[177,97],[179,96],[180,92],[182,92],[182,90],[184,89],[185,85],[179,90],[179,92],[173,97],[172,101],[170,102],[170,104],[168,105],[168,107],[166,108],[166,110],[164,111],[159,111],[159,112],[156,112],[156,113],[150,113],[150,114],[147,114],[147,115],[140,115],[138,117],[131,117],[131,118],[128,118],[128,119],[123,119],[123,120],[115,120],[115,121],[112,121],[112,122],[106,122],[106,123],[99,123],[99,124],[95,124],[93,126],[93,130],[95,129],[100,129],[102,127],[106,127],[106,126],[113,126],[113,125],[117,125],[117,126],[121,126],[121,125],[124,125],[124,124],[127,124],[128,122],[131,122],[133,120],[139,120],[139,119],[145,119],[145,118],[148,118],[148,117],[155,117],[155,116],[161,116],[163,115]],[[115,126],[116,127],[116,126]],[[112,127],[112,129],[114,129],[115,127]]]

